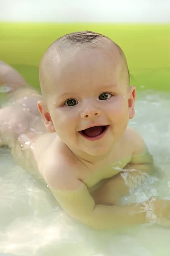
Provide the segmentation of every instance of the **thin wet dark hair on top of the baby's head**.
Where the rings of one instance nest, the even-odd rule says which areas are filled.
[[[113,40],[111,40],[111,38],[108,38],[105,35],[102,35],[100,33],[96,33],[96,32],[92,32],[92,31],[80,31],[80,32],[72,32],[66,35],[63,35],[62,37],[58,38],[57,40],[55,40],[49,48],[51,48],[54,44],[58,43],[58,47],[61,49],[63,48],[64,43],[68,43],[66,44],[67,47],[70,46],[75,46],[78,45],[79,47],[81,46],[88,46],[88,47],[92,47],[92,48],[99,48],[99,41],[100,39],[105,39],[106,41],[112,41],[114,45],[116,45],[116,47],[119,50],[120,55],[122,56],[122,58],[124,58],[126,67],[127,67],[127,72],[128,72],[128,76],[130,79],[130,72],[127,66],[127,61],[126,61],[126,57],[124,52],[122,51],[121,47],[119,47],[118,44],[116,44]]]

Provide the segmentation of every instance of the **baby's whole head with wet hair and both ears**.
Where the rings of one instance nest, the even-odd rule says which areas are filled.
[[[104,35],[84,31],[57,39],[42,58],[39,78],[45,126],[77,154],[107,153],[134,116],[125,55]]]

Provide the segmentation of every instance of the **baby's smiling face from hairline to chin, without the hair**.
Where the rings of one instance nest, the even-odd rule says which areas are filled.
[[[116,49],[83,49],[62,56],[57,72],[52,67],[48,111],[72,151],[106,154],[125,132],[134,88],[122,62]]]

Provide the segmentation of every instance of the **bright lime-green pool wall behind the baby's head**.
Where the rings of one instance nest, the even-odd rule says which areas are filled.
[[[48,46],[70,32],[91,30],[110,37],[125,52],[131,85],[170,90],[170,25],[0,23],[0,59],[39,88],[38,66]]]

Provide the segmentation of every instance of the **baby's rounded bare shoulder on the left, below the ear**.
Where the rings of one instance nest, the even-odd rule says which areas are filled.
[[[49,146],[42,155],[39,171],[46,183],[55,190],[77,190],[82,186],[79,180],[81,163],[64,143]]]

